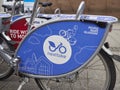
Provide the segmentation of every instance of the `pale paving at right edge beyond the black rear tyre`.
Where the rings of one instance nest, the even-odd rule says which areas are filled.
[[[107,41],[110,43],[111,50],[120,55],[120,23],[116,23],[113,26],[113,30],[109,33]],[[117,71],[117,82],[115,90],[120,90],[120,62],[115,61]]]

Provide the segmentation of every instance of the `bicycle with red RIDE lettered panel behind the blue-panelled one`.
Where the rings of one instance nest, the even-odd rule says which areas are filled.
[[[17,3],[18,1],[16,0],[16,2],[14,2],[13,8],[16,6],[15,3]],[[9,7],[10,6],[8,6],[8,8]],[[7,8],[7,6],[6,6],[6,8]],[[12,10],[12,12],[14,12],[14,9]],[[18,16],[20,16],[20,17],[18,17]],[[10,18],[12,18],[11,23],[10,23],[10,21],[11,21]],[[22,38],[26,35],[28,26],[29,27],[31,26],[31,25],[29,25],[29,21],[30,21],[30,15],[29,16],[28,15],[25,15],[25,16],[15,15],[15,16],[11,17],[10,14],[2,13],[1,14],[1,22],[2,23],[0,26],[2,28],[1,32],[0,32],[0,44],[1,44],[0,48],[9,51],[11,56],[13,56],[14,51],[17,48],[18,44],[20,43]],[[46,18],[35,18],[34,22],[31,22],[31,23],[34,23],[34,27],[37,27],[39,24],[41,24],[45,21],[47,21]],[[32,26],[32,28],[34,28],[34,27]],[[13,68],[10,68],[4,62],[1,55],[0,55],[0,66],[4,67],[4,70],[1,70],[1,72],[0,72],[0,80],[7,79],[8,77],[10,77],[13,74],[13,72],[14,72]],[[2,71],[4,71],[4,72],[2,72]]]

